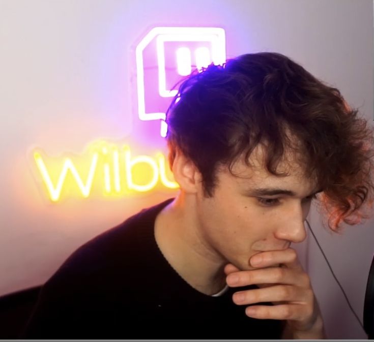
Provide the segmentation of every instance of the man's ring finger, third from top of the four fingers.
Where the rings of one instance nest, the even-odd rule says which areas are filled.
[[[234,293],[235,304],[254,304],[262,302],[294,302],[295,304],[307,304],[313,302],[313,292],[291,285],[276,285],[263,289],[239,291]]]

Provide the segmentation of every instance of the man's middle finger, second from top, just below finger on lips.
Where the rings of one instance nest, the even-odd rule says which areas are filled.
[[[308,288],[310,284],[306,273],[284,267],[269,267],[250,271],[236,271],[227,275],[226,283],[230,287],[259,284],[285,284]]]

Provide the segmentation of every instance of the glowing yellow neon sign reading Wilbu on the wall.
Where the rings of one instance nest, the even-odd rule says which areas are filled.
[[[161,186],[177,189],[179,185],[166,168],[166,159],[161,152],[155,157],[132,156],[129,146],[122,147],[103,141],[90,145],[84,156],[48,158],[39,150],[33,151],[39,175],[51,201],[64,196],[88,198],[93,193],[99,196],[121,196],[137,192],[148,192]]]

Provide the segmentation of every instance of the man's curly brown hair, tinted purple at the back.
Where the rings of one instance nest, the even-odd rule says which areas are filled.
[[[169,163],[177,150],[202,173],[213,196],[216,171],[232,172],[241,156],[266,142],[266,168],[276,168],[284,151],[297,150],[306,176],[323,190],[317,199],[330,229],[369,217],[373,203],[373,130],[337,88],[315,78],[275,52],[244,54],[184,79],[167,114]],[[292,143],[290,131],[297,138]]]

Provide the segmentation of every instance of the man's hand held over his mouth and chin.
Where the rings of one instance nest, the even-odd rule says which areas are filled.
[[[296,251],[258,253],[250,259],[254,270],[241,271],[233,264],[225,266],[230,287],[257,285],[260,289],[239,291],[233,295],[238,305],[272,302],[274,305],[251,305],[246,315],[257,319],[285,320],[283,338],[326,338],[317,300]]]

